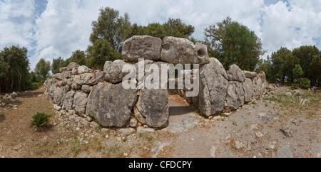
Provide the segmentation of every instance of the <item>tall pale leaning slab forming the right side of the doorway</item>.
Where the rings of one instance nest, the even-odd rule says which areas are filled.
[[[210,58],[210,64],[200,68],[198,108],[202,114],[210,117],[223,111],[228,85],[228,75],[222,63],[215,58]]]

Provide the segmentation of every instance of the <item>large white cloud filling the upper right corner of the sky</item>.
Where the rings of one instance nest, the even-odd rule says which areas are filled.
[[[320,1],[278,1],[265,6],[261,32],[267,55],[280,47],[292,50],[301,45],[317,45],[314,39],[321,36],[320,17]]]

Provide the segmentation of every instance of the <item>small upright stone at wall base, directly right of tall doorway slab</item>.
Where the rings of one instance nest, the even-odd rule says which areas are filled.
[[[238,109],[244,105],[244,90],[241,82],[230,81],[226,103],[230,109]]]

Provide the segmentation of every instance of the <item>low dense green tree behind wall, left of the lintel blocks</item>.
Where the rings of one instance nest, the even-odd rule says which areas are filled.
[[[121,59],[121,53],[113,49],[111,43],[102,39],[96,40],[90,54],[86,64],[88,68],[96,70],[103,70],[103,65],[105,65],[106,61]]]

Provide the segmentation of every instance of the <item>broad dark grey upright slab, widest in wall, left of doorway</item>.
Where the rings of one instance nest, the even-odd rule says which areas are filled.
[[[136,97],[136,90],[124,90],[121,84],[98,83],[88,96],[86,114],[103,127],[126,127]]]

